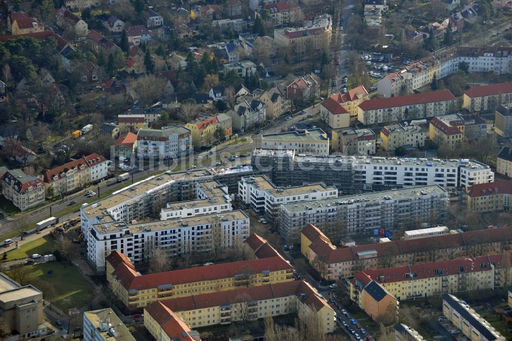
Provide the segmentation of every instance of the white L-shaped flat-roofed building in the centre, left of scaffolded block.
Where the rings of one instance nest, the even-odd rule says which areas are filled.
[[[310,200],[336,198],[338,190],[323,183],[276,187],[265,176],[243,177],[238,183],[238,197],[247,207],[269,220],[277,218],[281,205]]]

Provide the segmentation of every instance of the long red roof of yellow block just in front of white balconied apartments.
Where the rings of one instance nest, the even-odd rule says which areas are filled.
[[[262,271],[278,271],[292,269],[281,257],[263,258],[252,261],[239,261],[215,265],[207,265],[197,268],[150,273],[146,275],[134,275],[130,269],[121,266],[114,271],[116,279],[127,290],[143,290],[155,288],[159,285],[178,285],[199,281],[211,281],[216,279],[231,278],[241,274],[248,268],[254,273]]]

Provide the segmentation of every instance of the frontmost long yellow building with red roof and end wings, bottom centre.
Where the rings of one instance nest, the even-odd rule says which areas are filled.
[[[190,294],[155,302],[145,310],[151,311],[153,306],[159,303],[174,311],[190,328],[229,325],[242,319],[254,320],[289,313],[296,313],[298,317],[302,317],[310,312],[318,315],[325,333],[331,333],[336,328],[334,310],[318,291],[305,281]],[[145,316],[146,314],[144,319]],[[151,325],[150,328],[156,329]]]

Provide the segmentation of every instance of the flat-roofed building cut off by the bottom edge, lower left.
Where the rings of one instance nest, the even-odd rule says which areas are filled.
[[[83,313],[83,340],[135,341],[135,337],[114,310],[106,308]]]

